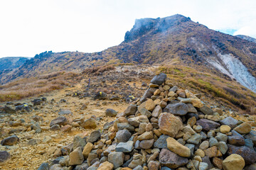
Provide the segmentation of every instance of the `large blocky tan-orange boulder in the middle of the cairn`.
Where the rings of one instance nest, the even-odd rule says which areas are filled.
[[[161,113],[159,115],[159,129],[164,135],[175,137],[178,130],[183,128],[181,119],[177,118],[171,113]]]

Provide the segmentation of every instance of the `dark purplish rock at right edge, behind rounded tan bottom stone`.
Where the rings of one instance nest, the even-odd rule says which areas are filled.
[[[245,164],[253,164],[256,162],[256,152],[253,149],[250,149],[250,147],[237,147],[234,145],[228,144],[228,155],[230,154],[240,154],[240,156],[245,159]]]

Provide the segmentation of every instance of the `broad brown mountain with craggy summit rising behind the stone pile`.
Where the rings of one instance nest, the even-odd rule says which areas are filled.
[[[236,80],[256,91],[256,44],[210,30],[181,15],[143,18],[124,42],[102,52],[43,52],[19,69],[1,74],[2,83],[54,71],[79,71],[111,63],[176,64]]]

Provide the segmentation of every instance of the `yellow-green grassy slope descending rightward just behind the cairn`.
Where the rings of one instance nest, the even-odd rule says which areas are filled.
[[[256,94],[236,81],[181,65],[164,65],[157,69],[159,70],[168,74],[169,79],[178,86],[198,91],[208,98],[226,103],[240,110],[240,113],[256,114]]]

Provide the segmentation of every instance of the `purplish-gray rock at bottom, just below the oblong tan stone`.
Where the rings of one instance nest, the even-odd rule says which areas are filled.
[[[188,159],[180,157],[178,156],[178,154],[175,154],[168,149],[161,149],[161,152],[159,154],[159,162],[160,164],[167,166],[171,169],[176,169],[179,166],[188,164]]]

